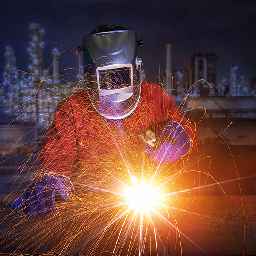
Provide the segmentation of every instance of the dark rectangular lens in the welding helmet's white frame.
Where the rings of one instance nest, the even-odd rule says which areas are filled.
[[[102,90],[120,89],[131,86],[131,68],[122,67],[99,70],[99,88]]]

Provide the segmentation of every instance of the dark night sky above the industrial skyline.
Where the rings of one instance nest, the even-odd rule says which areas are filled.
[[[172,69],[182,70],[194,52],[218,56],[218,82],[229,83],[230,64],[237,77],[256,77],[255,0],[45,0],[9,1],[0,5],[0,66],[6,45],[15,50],[17,69],[28,71],[28,27],[44,28],[44,67],[58,47],[60,69],[77,68],[75,52],[81,37],[101,24],[114,23],[137,30],[146,79],[155,81],[166,68],[167,43],[172,44]],[[61,46],[59,46],[61,45]]]

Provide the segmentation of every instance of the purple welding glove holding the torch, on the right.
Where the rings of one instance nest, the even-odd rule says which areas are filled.
[[[156,141],[146,144],[145,152],[156,163],[174,163],[189,153],[191,138],[184,128],[175,121],[169,121],[155,134]]]

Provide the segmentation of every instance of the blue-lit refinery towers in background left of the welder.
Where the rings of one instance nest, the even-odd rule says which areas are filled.
[[[44,68],[44,30],[38,23],[29,26],[28,72],[17,70],[15,52],[6,46],[3,80],[0,84],[0,109],[6,115],[17,119],[48,125],[58,102],[70,93],[81,89],[78,84],[62,79],[59,73],[59,50],[52,49],[52,65]],[[81,60],[78,57],[77,76],[81,79]],[[65,74],[66,75],[66,74]],[[71,79],[70,79],[71,80]]]

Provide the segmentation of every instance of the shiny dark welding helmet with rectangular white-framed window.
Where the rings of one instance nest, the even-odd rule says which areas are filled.
[[[135,30],[102,25],[83,37],[84,74],[94,108],[107,119],[123,119],[136,108],[142,62]],[[81,51],[81,49],[80,49]]]

